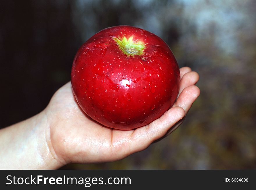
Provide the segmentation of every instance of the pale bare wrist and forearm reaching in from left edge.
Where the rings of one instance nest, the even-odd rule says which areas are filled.
[[[57,169],[64,164],[51,149],[49,125],[44,111],[1,129],[1,169]]]

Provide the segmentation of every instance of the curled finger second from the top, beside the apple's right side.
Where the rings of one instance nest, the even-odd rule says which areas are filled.
[[[180,86],[179,86],[179,94],[186,88],[187,86],[195,85],[199,80],[199,75],[195,71],[188,72],[183,75]]]

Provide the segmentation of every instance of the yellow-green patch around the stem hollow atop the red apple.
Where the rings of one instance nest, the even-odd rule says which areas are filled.
[[[117,43],[119,49],[127,56],[134,55],[143,55],[143,51],[145,49],[145,44],[143,44],[141,41],[134,42],[133,36],[127,38],[124,36],[121,39],[117,37],[113,37],[113,40]]]

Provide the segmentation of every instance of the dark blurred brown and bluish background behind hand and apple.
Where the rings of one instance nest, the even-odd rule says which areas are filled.
[[[183,124],[145,151],[62,169],[256,169],[255,10],[253,0],[1,1],[0,127],[47,106],[89,37],[131,25],[198,72],[201,95]]]

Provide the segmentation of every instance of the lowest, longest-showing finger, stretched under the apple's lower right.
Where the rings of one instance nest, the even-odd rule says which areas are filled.
[[[136,129],[131,135],[131,153],[144,150],[152,142],[163,137],[184,116],[185,111],[181,107],[172,107],[162,117],[153,121],[148,126]]]

